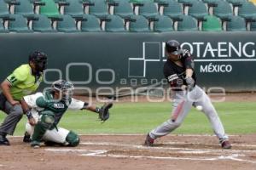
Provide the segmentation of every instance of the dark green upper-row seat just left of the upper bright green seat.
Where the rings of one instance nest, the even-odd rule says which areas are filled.
[[[29,0],[21,0],[20,5],[15,6],[15,14],[30,16],[34,14],[34,8]]]

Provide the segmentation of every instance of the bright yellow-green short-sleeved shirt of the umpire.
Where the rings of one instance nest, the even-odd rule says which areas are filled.
[[[34,93],[43,81],[43,77],[33,76],[30,65],[26,64],[16,68],[6,80],[11,84],[10,94],[12,97],[15,100],[20,100],[23,96]]]

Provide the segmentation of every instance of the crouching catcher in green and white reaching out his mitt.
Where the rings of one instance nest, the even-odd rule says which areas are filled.
[[[101,121],[108,120],[108,110],[112,107],[112,103],[106,103],[101,108],[89,105],[73,99],[73,90],[71,82],[58,80],[53,82],[51,89],[46,90],[44,94],[37,93],[23,97],[21,105],[28,118],[24,142],[31,141],[31,146],[34,148],[39,148],[41,141],[46,145],[77,146],[79,144],[77,133],[57,127],[67,109],[94,111]]]

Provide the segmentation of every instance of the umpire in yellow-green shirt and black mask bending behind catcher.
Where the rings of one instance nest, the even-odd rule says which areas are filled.
[[[13,135],[15,127],[23,115],[20,99],[34,93],[43,81],[47,65],[47,55],[35,51],[29,55],[29,63],[20,65],[1,84],[0,110],[8,116],[0,126],[0,145],[9,145],[6,135]],[[30,116],[28,116],[30,117]],[[29,122],[32,120],[29,119]]]

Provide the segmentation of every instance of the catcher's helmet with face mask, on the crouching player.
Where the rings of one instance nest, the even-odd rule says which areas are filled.
[[[63,100],[71,99],[73,96],[73,83],[67,82],[66,80],[58,80],[53,82],[51,88],[60,93],[61,99]]]

